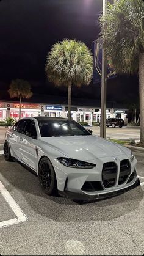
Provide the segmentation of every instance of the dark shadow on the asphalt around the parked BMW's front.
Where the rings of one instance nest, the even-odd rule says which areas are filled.
[[[19,163],[8,163],[1,157],[0,166],[2,176],[10,183],[5,186],[9,192],[18,189],[33,211],[57,222],[112,220],[136,210],[144,195],[137,187],[117,197],[79,204],[44,194],[37,176]]]

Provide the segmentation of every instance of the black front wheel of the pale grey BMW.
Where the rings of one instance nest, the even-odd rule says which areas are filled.
[[[48,195],[57,194],[57,181],[54,168],[48,158],[41,159],[38,166],[38,178],[43,192]]]

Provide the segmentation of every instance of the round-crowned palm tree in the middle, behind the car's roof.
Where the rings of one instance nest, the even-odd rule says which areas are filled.
[[[71,87],[88,86],[93,74],[93,57],[87,46],[77,40],[55,43],[46,60],[46,75],[56,86],[68,87],[68,118],[71,118]]]

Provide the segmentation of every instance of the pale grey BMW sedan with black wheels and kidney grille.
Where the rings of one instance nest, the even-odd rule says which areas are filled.
[[[46,194],[75,200],[114,196],[140,185],[131,150],[93,136],[79,123],[29,117],[7,130],[4,158],[34,170]]]

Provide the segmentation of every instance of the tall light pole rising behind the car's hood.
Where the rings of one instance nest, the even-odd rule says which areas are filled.
[[[106,23],[104,22],[106,7],[107,7],[107,0],[103,0],[103,43],[104,43],[104,32],[106,29]],[[102,48],[102,68],[101,68],[101,127],[100,127],[100,137],[103,137],[103,138],[106,138],[106,95],[107,95],[106,79],[107,79],[107,59],[104,54],[104,47],[103,47]]]

